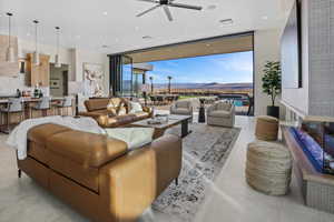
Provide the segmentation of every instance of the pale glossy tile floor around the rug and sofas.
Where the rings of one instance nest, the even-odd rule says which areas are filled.
[[[268,196],[245,182],[246,144],[254,140],[254,119],[237,117],[242,128],[224,169],[208,188],[207,199],[195,222],[334,222],[334,214],[303,205],[295,180],[286,196]],[[23,175],[17,178],[16,157],[0,134],[0,222],[84,222],[88,221],[68,205]],[[140,222],[177,222],[177,219],[148,209]]]

